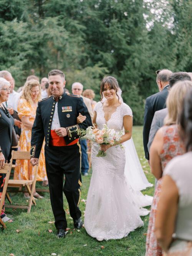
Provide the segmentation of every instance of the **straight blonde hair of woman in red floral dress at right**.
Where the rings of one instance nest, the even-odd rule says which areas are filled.
[[[185,95],[192,88],[191,81],[179,81],[169,91],[166,100],[168,113],[164,119],[164,125],[174,125],[178,123],[178,117],[182,110]]]

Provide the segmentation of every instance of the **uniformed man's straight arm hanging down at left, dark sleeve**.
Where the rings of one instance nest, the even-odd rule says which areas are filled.
[[[36,109],[36,118],[31,133],[31,158],[39,158],[44,140],[43,121],[41,118],[40,102]]]

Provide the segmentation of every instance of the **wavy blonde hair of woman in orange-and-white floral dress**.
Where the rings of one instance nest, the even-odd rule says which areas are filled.
[[[37,80],[31,79],[29,81],[26,81],[24,87],[23,87],[23,92],[22,92],[22,99],[27,100],[29,103],[33,103],[32,102],[32,98],[31,98],[31,89],[35,86],[39,87],[39,95],[36,99],[36,101],[41,100],[41,88],[40,88],[40,83]]]

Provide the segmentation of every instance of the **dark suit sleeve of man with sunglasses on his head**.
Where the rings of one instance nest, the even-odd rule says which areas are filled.
[[[143,146],[145,151],[145,158],[149,160],[149,151],[147,148],[147,143],[149,141],[149,132],[151,129],[151,123],[153,120],[153,110],[149,102],[149,98],[146,99],[145,112],[144,112],[144,125],[143,125]]]

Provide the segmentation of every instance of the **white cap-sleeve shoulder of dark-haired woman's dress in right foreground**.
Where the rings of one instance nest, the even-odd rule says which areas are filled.
[[[192,196],[189,196],[191,192],[189,180],[191,180],[192,175],[189,177],[190,172],[185,166],[186,162],[183,157],[184,155],[173,158],[163,172],[163,175],[169,175],[177,186],[180,207],[192,204]]]

